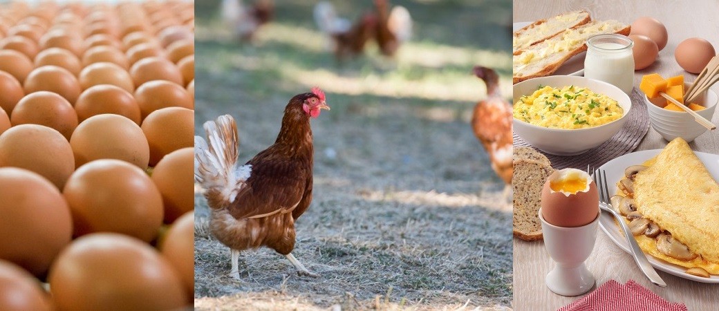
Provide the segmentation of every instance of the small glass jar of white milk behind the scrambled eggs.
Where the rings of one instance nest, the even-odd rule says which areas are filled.
[[[587,40],[585,77],[605,81],[630,94],[634,84],[634,42],[621,34],[597,34]]]

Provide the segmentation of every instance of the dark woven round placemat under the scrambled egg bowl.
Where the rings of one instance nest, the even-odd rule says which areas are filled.
[[[644,135],[646,135],[646,131],[649,130],[649,112],[646,111],[644,95],[640,90],[634,88],[629,98],[631,98],[632,105],[624,127],[599,147],[590,149],[583,154],[567,157],[547,154],[541,150],[537,151],[544,154],[549,161],[551,161],[551,166],[557,170],[562,170],[566,167],[587,170],[587,165],[590,167],[600,167],[615,157],[632,152],[639,145]],[[517,134],[513,136],[513,147],[531,147],[530,144],[517,136]]]

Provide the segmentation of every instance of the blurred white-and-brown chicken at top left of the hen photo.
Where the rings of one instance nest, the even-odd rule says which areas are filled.
[[[275,14],[272,0],[257,0],[252,6],[242,0],[222,0],[222,19],[240,40],[252,40],[257,29],[270,22]]]

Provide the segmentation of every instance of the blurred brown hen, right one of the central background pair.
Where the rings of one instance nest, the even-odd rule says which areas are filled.
[[[412,17],[404,6],[395,6],[392,11],[389,6],[388,0],[375,0],[375,9],[377,9],[375,39],[382,54],[393,56],[400,45],[411,37]]]

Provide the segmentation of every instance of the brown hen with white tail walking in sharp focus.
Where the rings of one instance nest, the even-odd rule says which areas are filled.
[[[211,209],[210,231],[229,246],[232,277],[239,251],[267,246],[283,254],[300,275],[317,277],[295,256],[295,221],[312,200],[313,141],[310,119],[329,110],[319,88],[290,99],[275,144],[244,165],[237,162],[237,126],[224,115],[195,136],[195,180]]]

